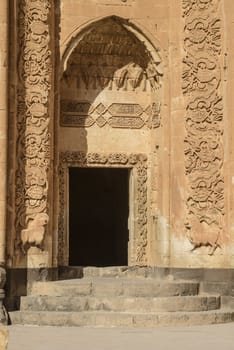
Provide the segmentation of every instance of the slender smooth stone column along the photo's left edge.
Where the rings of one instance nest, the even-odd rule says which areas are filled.
[[[5,248],[6,248],[6,196],[7,196],[7,45],[8,45],[8,1],[0,4],[0,323],[6,322],[5,312],[2,306],[4,298],[5,273]]]

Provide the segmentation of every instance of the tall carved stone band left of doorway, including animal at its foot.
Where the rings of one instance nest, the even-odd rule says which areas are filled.
[[[48,267],[51,258],[47,234],[52,168],[52,7],[49,0],[17,2],[15,250],[19,260],[27,256],[26,266],[35,268]],[[37,255],[33,265],[29,251]]]

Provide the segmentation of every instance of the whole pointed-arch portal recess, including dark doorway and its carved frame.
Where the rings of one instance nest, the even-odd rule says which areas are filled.
[[[146,38],[143,39],[142,34],[138,33],[134,26],[130,26],[128,21],[116,16],[91,23],[84,30],[74,34],[68,43],[62,59],[57,129],[59,184],[55,187],[59,189],[59,266],[78,263],[82,265],[149,263],[153,225],[150,223],[148,208],[152,206],[157,208],[158,200],[157,184],[152,188],[152,183],[147,181],[147,178],[158,179],[156,153],[160,143],[162,87],[162,59],[158,51]],[[129,169],[132,170],[129,244],[127,247],[126,242],[117,243],[121,246],[120,250],[124,251],[121,253],[123,255],[115,257],[117,250],[113,250],[115,248],[111,246],[103,252],[96,251],[97,246],[101,246],[103,241],[107,247],[108,239],[112,242],[110,244],[113,244],[113,238],[116,240],[117,236],[111,238],[110,234],[106,233],[103,239],[97,240],[96,246],[94,244],[95,251],[90,253],[92,258],[89,257],[88,261],[76,260],[76,252],[73,253],[69,248],[69,245],[72,249],[79,245],[77,238],[74,238],[75,244],[73,244],[71,236],[71,231],[77,231],[76,224],[75,228],[70,227],[68,232],[67,198],[70,167],[106,167],[112,169],[109,170],[111,174],[114,174],[113,168],[125,168],[126,174]],[[92,171],[94,170],[90,170],[90,173]],[[107,172],[108,170],[105,170],[104,173]],[[92,186],[93,183],[91,188]],[[152,195],[148,196],[147,193]],[[85,198],[83,202],[86,202]],[[100,207],[99,204],[97,206]],[[122,206],[125,207],[125,204]],[[100,228],[100,232],[114,230],[110,223],[111,219],[108,218],[109,210],[110,206],[107,205],[106,214],[103,212],[103,218],[106,216],[103,227],[106,229]],[[151,213],[156,217],[157,209]],[[126,220],[123,219],[123,225]],[[86,221],[92,226],[88,217]],[[73,223],[70,222],[70,225]],[[119,225],[114,220],[117,231],[122,230]],[[85,232],[85,227],[81,230]],[[94,227],[90,230],[93,231]],[[95,239],[99,235],[95,236]],[[87,239],[92,241],[94,237],[92,235],[91,237]],[[76,251],[76,248],[74,249]],[[92,248],[89,242],[88,247],[81,248],[81,252],[84,250],[84,253],[80,254],[86,256],[86,251],[91,252],[90,249]],[[104,260],[95,259],[96,254],[100,254]]]

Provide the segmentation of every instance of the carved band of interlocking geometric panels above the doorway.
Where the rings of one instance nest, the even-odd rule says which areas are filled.
[[[109,125],[112,128],[140,129],[160,126],[160,104],[143,108],[134,103],[112,103],[109,107],[99,103],[92,106],[87,101],[63,100],[61,102],[61,126],[91,127]]]

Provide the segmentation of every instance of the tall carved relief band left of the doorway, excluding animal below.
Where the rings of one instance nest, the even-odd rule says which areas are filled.
[[[39,213],[48,214],[51,51],[49,0],[19,0],[16,235]]]

